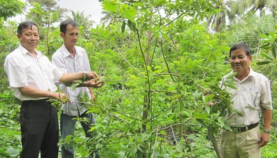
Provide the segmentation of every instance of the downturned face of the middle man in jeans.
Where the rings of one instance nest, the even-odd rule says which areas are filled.
[[[78,40],[79,30],[77,27],[73,28],[70,24],[66,26],[66,32],[61,32],[66,46],[75,46]]]

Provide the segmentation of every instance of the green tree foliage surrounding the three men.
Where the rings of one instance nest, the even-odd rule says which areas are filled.
[[[29,2],[33,8],[26,17],[41,27],[42,42],[37,49],[50,58],[62,45],[59,28],[53,23],[60,22],[64,12],[54,1]],[[276,60],[276,20],[270,14],[234,16],[228,28],[222,25],[215,34],[206,29],[213,14],[223,15],[220,2],[106,0],[102,1],[106,19],[95,28],[89,27],[91,23],[81,25],[88,17],[74,12],[81,26],[78,46],[87,50],[92,70],[104,76],[106,83],[94,90],[96,102],[82,98],[97,116],[91,128],[95,137],[85,139],[77,130],[74,138],[59,144],[73,146],[76,157],[86,157],[96,149],[102,157],[220,157],[220,130],[230,130],[224,115],[233,110],[229,94],[219,86],[231,71],[226,64],[229,46],[247,41],[259,60]],[[2,63],[18,45],[15,30],[16,23],[10,21],[1,26]],[[276,76],[269,65],[251,64],[271,79]],[[21,148],[19,102],[0,70],[0,133],[5,135],[1,142],[6,142],[0,143],[0,155],[17,157]],[[231,79],[222,85],[233,87]],[[275,96],[276,83],[273,86]],[[267,156],[276,156],[268,151]]]

